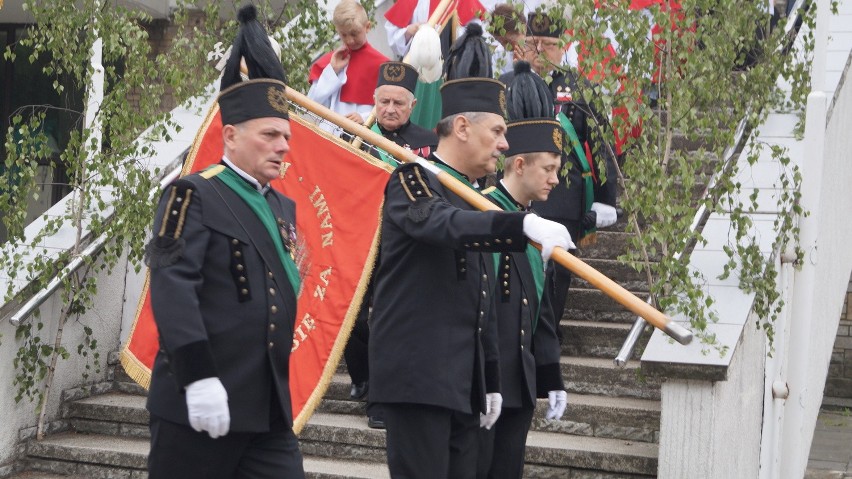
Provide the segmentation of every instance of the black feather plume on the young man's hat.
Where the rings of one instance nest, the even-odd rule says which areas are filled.
[[[528,62],[515,62],[515,75],[506,85],[506,109],[510,120],[553,117],[550,88],[540,76],[532,72]]]

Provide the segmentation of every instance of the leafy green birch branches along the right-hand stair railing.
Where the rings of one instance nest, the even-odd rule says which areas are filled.
[[[595,8],[594,3],[601,5]],[[629,251],[620,260],[646,272],[650,293],[661,310],[689,318],[704,343],[716,344],[707,329],[718,320],[707,294],[708,278],[689,268],[688,256],[676,253],[704,242],[701,232],[690,228],[699,206],[710,213],[729,214],[732,232],[724,271],[736,271],[740,287],[755,294],[757,326],[771,341],[782,304],[774,260],[759,250],[752,234],[752,216],[761,213],[759,190],[743,200],[737,172],[723,170],[719,159],[734,143],[742,118],[748,115],[746,133],[754,134],[769,111],[779,107],[779,77],[794,92],[786,108],[801,111],[809,90],[807,55],[812,38],[802,37],[800,56],[805,58],[782,52],[781,47],[789,43],[783,24],[769,32],[770,17],[761,2],[694,0],[672,10],[670,2],[664,1],[645,12],[629,10],[628,3],[560,0],[551,9],[570,14],[569,30],[561,41],[580,45],[579,70],[603,73],[573,94],[599,112],[626,108],[628,125],[641,121],[642,134],[632,139],[623,171],[612,179],[622,182],[620,205],[630,217],[627,229],[632,233]],[[813,10],[807,12],[805,25],[812,24]],[[662,28],[650,36],[653,24]],[[614,57],[607,49],[607,26],[619,44]],[[651,96],[656,97],[656,107],[650,104]],[[613,115],[611,122],[618,121],[618,115]],[[611,125],[590,127],[601,131],[607,143],[614,143]],[[743,154],[754,164],[759,148],[766,147],[750,144]],[[783,169],[773,187],[779,192],[772,208],[780,212],[775,224],[779,236],[773,244],[777,254],[791,240],[795,244],[795,218],[802,214],[798,206],[801,175],[787,151],[774,147],[771,154]],[[602,164],[598,171],[604,171]],[[712,174],[716,181],[701,199],[697,193]]]

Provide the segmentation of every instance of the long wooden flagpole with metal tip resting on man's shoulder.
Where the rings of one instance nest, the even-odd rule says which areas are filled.
[[[369,141],[373,145],[378,146],[379,148],[393,155],[398,160],[406,163],[416,162],[422,165],[424,168],[428,169],[429,171],[435,172],[441,184],[449,188],[453,193],[462,197],[465,201],[467,201],[475,208],[482,211],[500,209],[499,207],[488,201],[484,196],[463,185],[459,180],[453,178],[450,174],[437,168],[435,165],[429,163],[423,158],[418,157],[409,150],[388,140],[382,135],[373,132],[369,128],[366,128],[363,125],[359,125],[358,123],[355,123],[354,121],[329,110],[328,108],[316,103],[313,100],[310,100],[307,96],[293,90],[292,88],[287,88],[287,98],[293,103],[310,111],[311,113],[325,120],[328,120],[352,133],[359,135],[360,137]],[[541,249],[541,246],[539,244],[532,241],[530,243],[536,248]],[[627,291],[621,285],[609,279],[600,271],[592,268],[591,266],[589,266],[579,258],[575,257],[574,255],[568,253],[564,249],[554,249],[551,258],[557,263],[567,268],[568,270],[570,270],[571,272],[573,272],[574,274],[576,274],[577,276],[588,281],[595,288],[598,288],[603,291],[607,296],[618,301],[622,306],[636,313],[638,316],[641,316],[646,321],[648,321],[648,323],[653,325],[655,328],[662,330],[663,332],[674,338],[677,342],[681,344],[689,344],[692,341],[691,331],[687,330],[680,324],[675,323],[668,316],[661,313],[660,311],[657,311],[653,306],[646,303],[645,301],[642,301],[641,299],[636,297],[636,295]]]

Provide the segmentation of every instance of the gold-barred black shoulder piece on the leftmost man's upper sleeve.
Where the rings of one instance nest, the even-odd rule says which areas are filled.
[[[145,247],[145,263],[151,268],[169,266],[177,262],[186,244],[183,233],[186,211],[192,202],[195,185],[187,179],[178,179],[166,189],[166,208],[159,231]]]

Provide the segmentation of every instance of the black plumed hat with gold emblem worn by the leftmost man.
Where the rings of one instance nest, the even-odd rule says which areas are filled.
[[[269,37],[257,21],[257,9],[248,5],[237,14],[240,29],[231,46],[220,84],[219,109],[223,125],[254,118],[289,119],[284,67]],[[248,81],[240,78],[240,60],[248,69]]]

